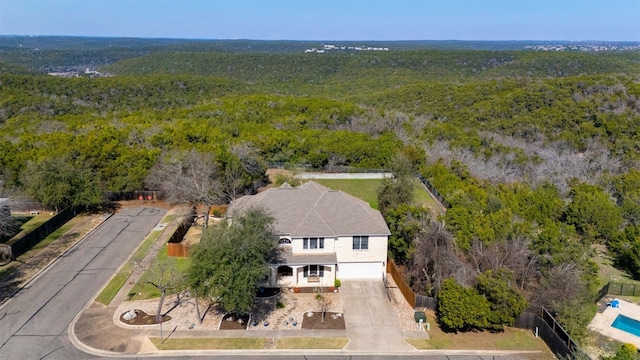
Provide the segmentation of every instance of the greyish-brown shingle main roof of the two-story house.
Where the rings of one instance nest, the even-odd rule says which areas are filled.
[[[229,211],[252,206],[269,210],[275,217],[276,230],[293,237],[390,235],[380,212],[367,202],[314,181],[243,196],[231,204]]]

